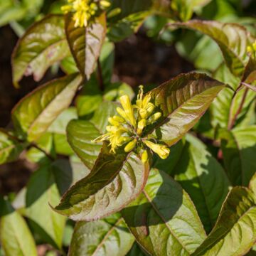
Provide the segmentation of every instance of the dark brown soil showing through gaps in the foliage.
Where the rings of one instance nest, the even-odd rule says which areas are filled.
[[[9,26],[0,28],[0,127],[11,128],[11,109],[28,92],[56,75],[48,71],[39,83],[24,78],[20,89],[14,88],[11,80],[11,53],[18,37]],[[183,60],[174,46],[154,43],[140,31],[125,41],[116,44],[115,79],[137,85],[160,85],[179,73],[193,70],[193,65]],[[63,75],[60,71],[57,76]],[[26,185],[36,166],[21,156],[19,161],[0,166],[0,193],[16,193]]]

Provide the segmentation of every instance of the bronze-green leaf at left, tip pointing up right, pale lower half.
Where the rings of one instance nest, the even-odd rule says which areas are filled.
[[[80,82],[80,75],[68,75],[26,95],[12,112],[17,132],[28,141],[41,137],[58,115],[68,108]]]

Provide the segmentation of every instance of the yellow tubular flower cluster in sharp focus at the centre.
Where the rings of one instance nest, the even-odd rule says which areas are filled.
[[[107,133],[96,138],[93,142],[110,142],[111,151],[116,153],[119,146],[124,146],[124,151],[130,152],[136,147],[143,149],[142,161],[146,162],[148,154],[146,147],[158,154],[161,159],[169,156],[170,150],[167,146],[155,144],[149,138],[142,137],[147,125],[153,124],[161,117],[161,112],[154,113],[155,106],[150,102],[151,95],[143,95],[143,86],[140,86],[136,105],[132,105],[129,96],[123,95],[119,98],[121,107],[117,107],[117,113],[110,117]]]

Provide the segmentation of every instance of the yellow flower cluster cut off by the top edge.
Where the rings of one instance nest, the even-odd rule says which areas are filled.
[[[75,27],[86,27],[95,16],[110,6],[108,0],[68,0],[68,3],[61,10],[65,14],[73,13]]]

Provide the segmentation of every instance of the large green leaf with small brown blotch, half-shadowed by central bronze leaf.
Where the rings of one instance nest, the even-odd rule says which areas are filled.
[[[149,255],[191,255],[206,238],[188,194],[157,169],[151,169],[144,191],[122,216]]]

